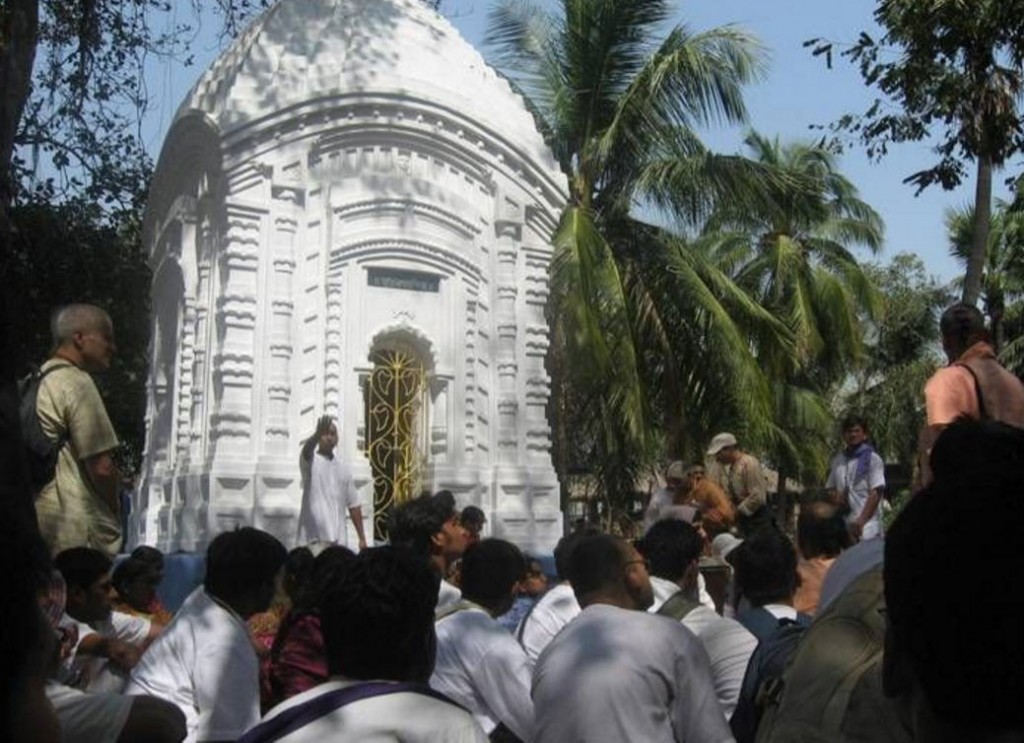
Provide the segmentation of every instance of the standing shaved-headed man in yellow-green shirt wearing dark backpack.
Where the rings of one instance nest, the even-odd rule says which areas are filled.
[[[114,325],[98,307],[73,304],[53,314],[53,355],[42,366],[36,412],[43,431],[61,442],[53,481],[36,500],[39,530],[55,555],[90,547],[121,548],[118,437],[89,376],[110,368]]]

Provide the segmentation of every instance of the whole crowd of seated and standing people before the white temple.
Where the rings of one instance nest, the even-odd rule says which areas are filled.
[[[58,358],[109,363],[104,317],[58,314]],[[928,467],[888,532],[863,418],[842,422],[792,535],[760,463],[720,433],[707,463],[669,466],[642,538],[562,537],[550,584],[450,491],[396,505],[369,547],[324,419],[301,455],[304,545],[223,532],[201,584],[165,606],[159,551],[112,555],[109,422],[60,423],[69,395],[103,423],[91,380],[48,375],[54,482],[38,528],[24,510],[0,523],[4,740],[1024,741],[1024,385],[991,367],[978,317],[943,316],[967,372],[929,383]],[[965,549],[980,534],[984,564]]]

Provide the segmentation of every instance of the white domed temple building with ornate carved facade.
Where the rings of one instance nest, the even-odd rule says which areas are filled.
[[[329,413],[368,533],[389,492],[447,488],[490,534],[550,550],[545,304],[564,201],[522,100],[418,0],[270,7],[182,103],[150,193],[129,542],[201,550],[251,524],[293,544],[299,449]]]

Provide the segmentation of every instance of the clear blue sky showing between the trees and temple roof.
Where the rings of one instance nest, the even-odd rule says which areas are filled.
[[[441,4],[442,13],[485,56],[482,39],[489,4],[488,0],[443,0]],[[873,29],[874,5],[873,0],[693,0],[679,3],[676,23],[685,23],[695,31],[735,24],[757,36],[768,49],[770,63],[765,80],[748,92],[752,125],[783,141],[815,139],[820,133],[810,130],[811,125],[862,112],[872,96],[845,60],[837,58],[828,70],[803,42],[815,37],[840,44],[854,41],[861,30]],[[205,28],[191,47],[196,55],[193,67],[158,59],[148,64],[147,82],[159,103],[144,122],[143,133],[155,158],[177,105],[225,43],[217,38],[216,27],[216,18],[205,19]],[[740,149],[742,133],[740,129],[720,128],[702,136],[709,146],[733,152]],[[931,273],[949,279],[961,271],[948,256],[943,211],[970,203],[973,181],[956,191],[930,188],[914,196],[913,188],[902,180],[931,165],[932,160],[927,144],[893,147],[880,163],[869,162],[863,150],[854,146],[842,157],[841,167],[885,220],[886,247],[880,259],[916,253]],[[1001,183],[1001,175],[996,179]],[[997,188],[997,192],[1004,191]]]

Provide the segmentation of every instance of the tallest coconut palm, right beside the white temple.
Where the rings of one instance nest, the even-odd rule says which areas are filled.
[[[620,473],[622,449],[642,464],[664,434],[657,419],[685,419],[697,394],[719,424],[766,429],[770,388],[748,332],[779,348],[788,332],[679,229],[720,199],[764,201],[791,185],[770,168],[710,152],[694,134],[745,120],[741,91],[761,73],[761,46],[732,27],[670,26],[665,0],[548,8],[499,3],[488,43],[568,178],[552,270],[557,466],[569,464],[570,414],[588,444],[575,449]],[[674,228],[642,219],[644,209]]]

